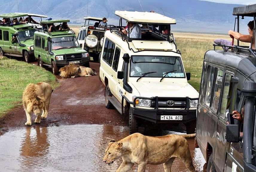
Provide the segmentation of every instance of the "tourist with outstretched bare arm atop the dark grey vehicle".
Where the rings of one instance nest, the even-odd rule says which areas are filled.
[[[254,22],[250,21],[247,24],[247,26],[248,26],[249,35],[243,35],[238,32],[234,32],[233,30],[228,31],[228,35],[230,35],[231,38],[236,38],[237,40],[240,40],[242,42],[251,43],[253,38]],[[253,40],[252,45],[250,45],[249,48],[256,49],[255,40]]]

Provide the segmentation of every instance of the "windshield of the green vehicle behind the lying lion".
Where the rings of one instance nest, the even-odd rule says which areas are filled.
[[[51,47],[52,50],[68,49],[79,47],[79,44],[74,36],[55,37],[51,39]]]

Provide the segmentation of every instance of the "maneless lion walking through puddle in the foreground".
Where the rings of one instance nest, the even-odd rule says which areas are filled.
[[[172,163],[178,157],[190,172],[195,172],[188,141],[185,139],[190,137],[195,137],[195,134],[150,137],[134,133],[118,142],[111,140],[103,161],[112,164],[122,157],[123,162],[116,172],[129,171],[134,164],[138,164],[138,172],[144,172],[147,164],[164,164],[164,171],[171,172]]]

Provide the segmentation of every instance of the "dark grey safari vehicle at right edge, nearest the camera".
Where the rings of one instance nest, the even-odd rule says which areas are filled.
[[[235,7],[239,20],[256,21],[256,4]],[[256,42],[255,28],[251,45]],[[217,47],[223,50],[217,50]],[[229,50],[225,50],[229,48]],[[214,44],[205,53],[196,122],[196,141],[207,172],[256,171],[256,50]],[[242,114],[238,121],[234,110]]]

